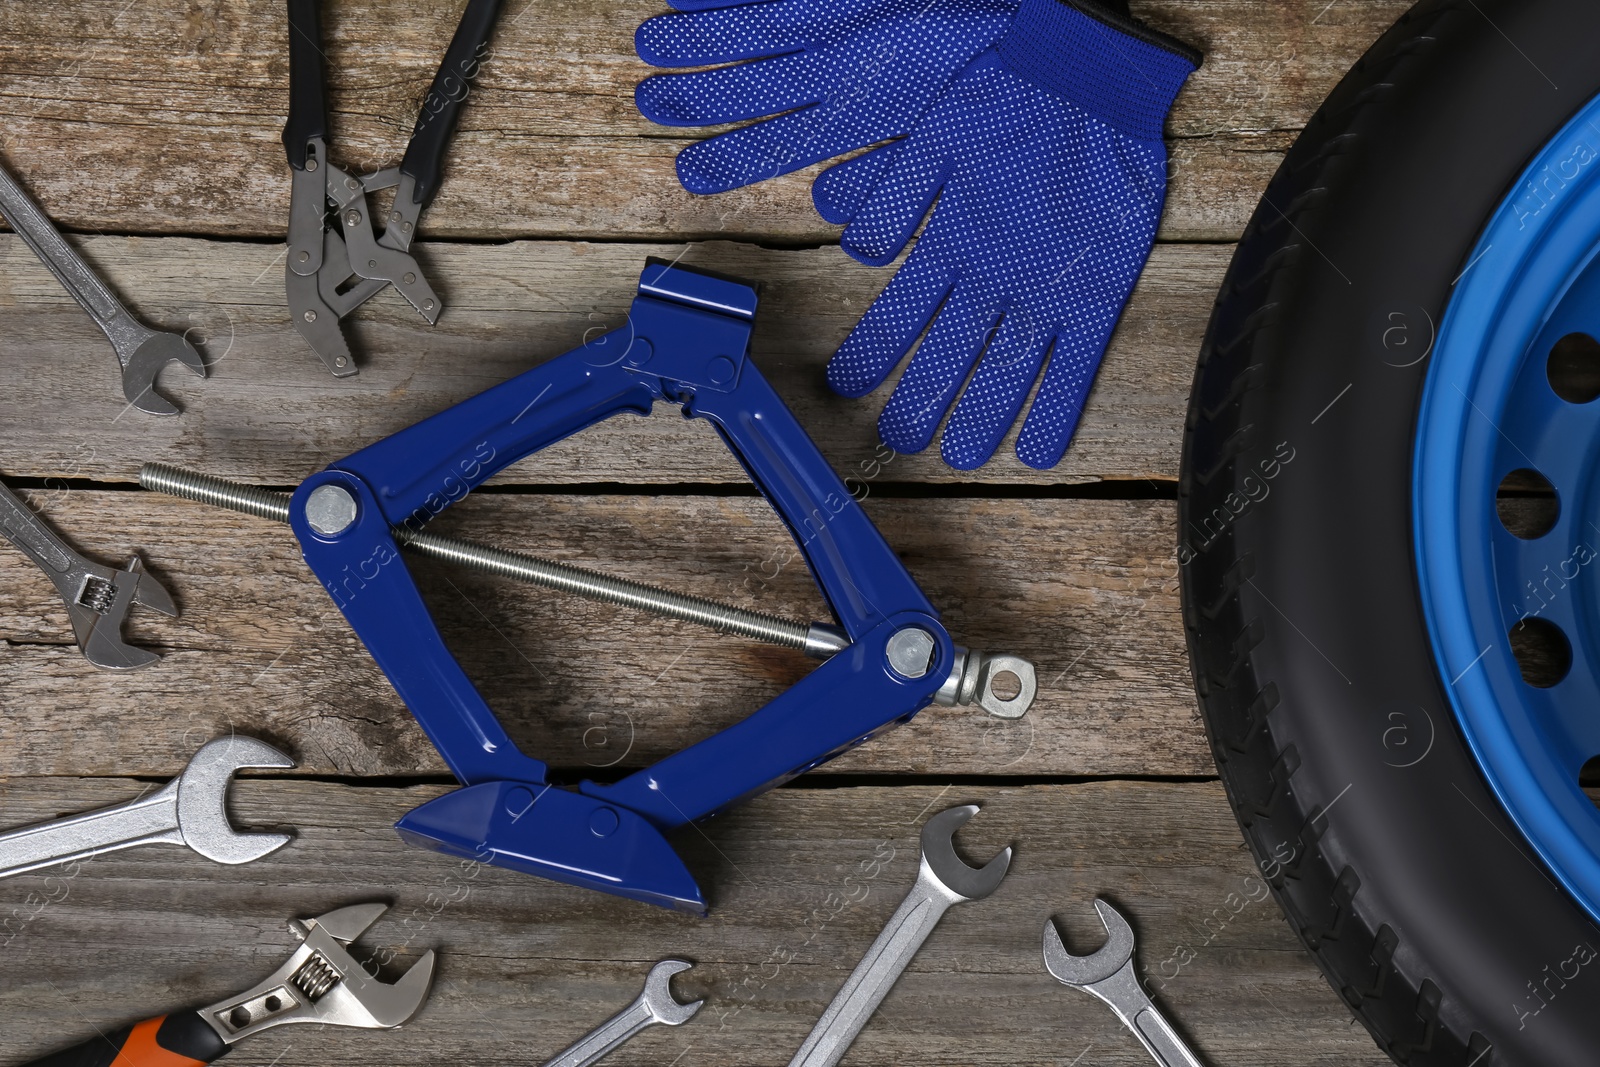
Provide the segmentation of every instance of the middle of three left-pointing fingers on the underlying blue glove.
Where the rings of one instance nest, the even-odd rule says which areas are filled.
[[[806,107],[826,96],[814,56],[797,53],[734,67],[658,74],[634,90],[638,114],[662,126],[715,126]]]

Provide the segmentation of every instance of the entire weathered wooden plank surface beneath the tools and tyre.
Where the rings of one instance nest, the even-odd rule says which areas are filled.
[[[328,0],[338,160],[398,158],[459,0]],[[126,411],[104,339],[0,235],[0,472],[78,547],[139,550],[182,617],[136,613],[165,654],[85,664],[50,584],[0,550],[0,824],[130,798],[206,739],[293,752],[235,789],[235,817],[298,840],[229,869],[184,849],[0,881],[0,1064],[198,1005],[286,955],[283,920],[362,899],[365,944],[440,952],[397,1033],[280,1030],[251,1064],[538,1064],[626,1005],[654,960],[707,997],[616,1064],[784,1064],[915,877],[917,827],[974,800],[962,849],[1016,845],[989,901],[950,912],[846,1064],[1142,1064],[1093,998],[1040,966],[1058,915],[1134,920],[1139,961],[1208,1064],[1378,1065],[1259,878],[1206,753],[1176,600],[1182,411],[1229,245],[1318,102],[1403,0],[1162,0],[1134,11],[1203,46],[1170,123],[1162,243],[1061,467],[1005,448],[979,472],[877,446],[885,392],[827,394],[822,365],[888,280],[810,210],[814,171],[686,195],[685,131],[632,109],[630,35],[653,3],[507,5],[418,256],[434,328],[394,293],[347,322],[362,374],[334,381],[288,322],[282,5],[0,0],[0,155],[141,317],[190,330],[206,381],[168,371],[179,419]],[[677,835],[712,915],[690,920],[406,848],[389,829],[446,790],[437,753],[312,582],[286,528],[142,493],[160,459],[288,488],[331,459],[614,325],[646,254],[765,283],[755,360],[866,490],[958,640],[1034,659],[1005,723],[930,709],[834,765]],[[789,541],[706,427],[616,419],[506,472],[450,533],[816,617]],[[416,565],[467,672],[562,781],[614,776],[736,721],[806,661],[686,625]],[[254,781],[254,779],[266,781]],[[874,862],[877,859],[877,862]],[[870,875],[864,872],[872,872]],[[848,878],[848,881],[846,881]]]

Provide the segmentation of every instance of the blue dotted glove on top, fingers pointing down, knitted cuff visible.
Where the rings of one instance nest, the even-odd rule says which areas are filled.
[[[835,392],[861,397],[926,330],[878,418],[883,443],[922,451],[954,403],[939,453],[981,467],[1038,381],[1016,454],[1038,469],[1061,461],[1150,254],[1166,200],[1162,126],[1198,62],[1093,0],[1021,0],[1005,37],[909,136],[818,178],[818,211],[850,224],[845,251],[870,266],[901,253],[827,365]]]

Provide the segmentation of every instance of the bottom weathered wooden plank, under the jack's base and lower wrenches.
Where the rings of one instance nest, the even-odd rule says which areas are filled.
[[[142,787],[13,779],[0,803],[10,821],[38,819]],[[400,845],[389,824],[438,792],[246,781],[235,787],[240,822],[299,833],[256,864],[136,849],[75,877],[0,881],[0,1061],[237,992],[291,950],[285,920],[376,897],[394,904],[362,942],[379,960],[400,968],[440,953],[422,1014],[390,1033],[264,1033],[235,1062],[525,1067],[678,955],[696,963],[677,979],[680,995],[706,997],[706,1008],[608,1062],[784,1064],[914,880],[922,819],[971,800],[984,811],[962,849],[984,859],[1014,843],[1011,873],[994,896],[950,910],[851,1064],[1147,1064],[1104,1005],[1058,985],[1040,961],[1050,915],[1074,947],[1099,942],[1099,893],[1133,918],[1142,968],[1206,1062],[1387,1062],[1266,897],[1214,784],[779,790],[680,835],[709,891],[704,920]]]

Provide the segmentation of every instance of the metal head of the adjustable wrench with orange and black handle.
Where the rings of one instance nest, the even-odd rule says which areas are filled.
[[[264,982],[200,1009],[229,1045],[294,1022],[392,1030],[414,1016],[434,982],[432,950],[389,984],[378,981],[346,945],[389,910],[362,904],[296,923],[304,942]],[[352,937],[341,934],[350,933]]]

